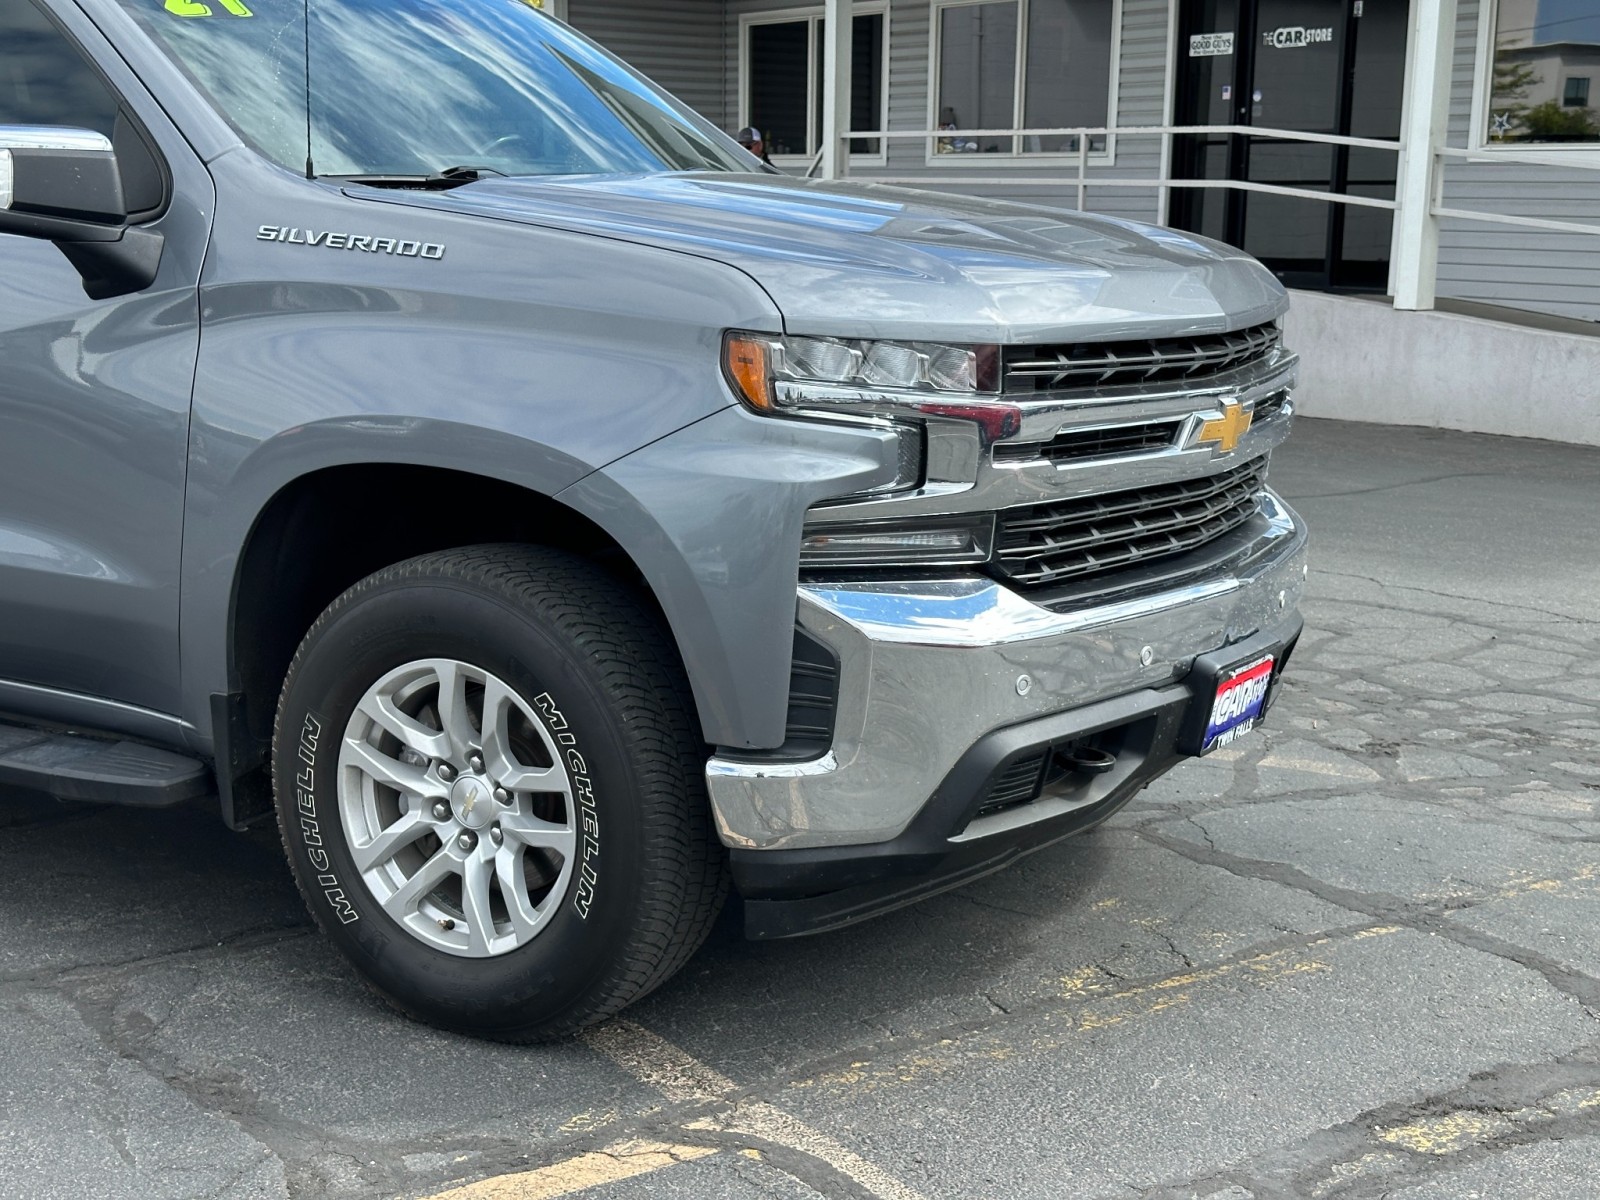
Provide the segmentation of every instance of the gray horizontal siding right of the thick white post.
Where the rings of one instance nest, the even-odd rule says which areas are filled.
[[[1478,0],[1461,0],[1450,106],[1450,144],[1459,147],[1470,133],[1478,14]],[[1600,171],[1453,163],[1445,173],[1445,205],[1600,226]],[[1600,235],[1446,221],[1438,294],[1600,320]]]

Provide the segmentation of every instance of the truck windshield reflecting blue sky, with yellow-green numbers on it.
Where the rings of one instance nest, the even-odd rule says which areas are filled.
[[[296,173],[758,170],[523,0],[122,2],[245,141]]]

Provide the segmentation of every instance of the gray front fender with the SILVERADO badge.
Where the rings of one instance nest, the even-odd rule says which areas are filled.
[[[234,690],[240,554],[285,486],[331,466],[408,464],[554,496],[733,405],[723,330],[781,328],[771,299],[718,262],[370,205],[243,149],[211,170],[181,581],[182,717],[202,752],[210,696]],[[349,250],[349,235],[443,251]],[[382,496],[363,518],[382,520]]]

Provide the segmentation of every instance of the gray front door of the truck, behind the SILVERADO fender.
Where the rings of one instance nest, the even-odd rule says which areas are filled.
[[[86,26],[72,32],[94,42]],[[109,53],[101,61],[125,75]],[[149,290],[91,301],[50,242],[0,234],[0,680],[176,712],[195,288],[211,192],[147,98],[138,104],[128,110],[182,189],[182,203],[150,226],[165,248]],[[62,30],[27,0],[0,0],[0,123],[109,134],[120,107]]]

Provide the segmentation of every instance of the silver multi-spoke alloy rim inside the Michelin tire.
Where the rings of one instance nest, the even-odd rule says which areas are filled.
[[[339,746],[339,819],[362,883],[450,954],[506,954],[539,934],[571,883],[571,805],[533,707],[456,659],[387,672]]]

